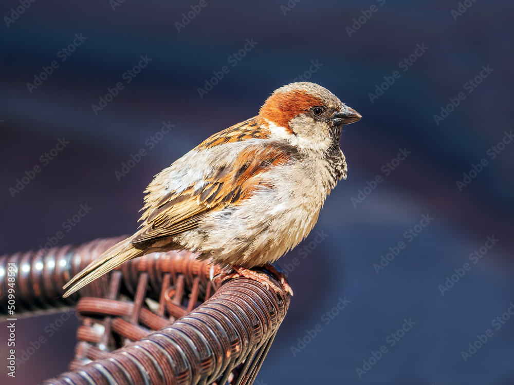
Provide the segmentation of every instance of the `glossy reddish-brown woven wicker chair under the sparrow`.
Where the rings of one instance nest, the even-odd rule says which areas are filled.
[[[289,295],[236,278],[217,291],[219,266],[190,252],[153,253],[62,298],[62,286],[124,237],[0,257],[17,267],[16,314],[77,306],[70,372],[45,384],[248,384],[289,306]],[[277,285],[280,282],[267,273]],[[0,277],[0,314],[7,280]]]

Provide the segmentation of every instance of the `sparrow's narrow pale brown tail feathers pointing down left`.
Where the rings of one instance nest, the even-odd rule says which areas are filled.
[[[132,246],[131,238],[115,244],[63,286],[63,289],[69,287],[63,297],[70,296],[122,263],[143,254],[145,251]]]

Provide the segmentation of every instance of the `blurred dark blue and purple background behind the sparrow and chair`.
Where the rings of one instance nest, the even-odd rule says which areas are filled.
[[[488,155],[513,128],[512,2],[206,0],[178,30],[198,3],[37,1],[14,20],[21,2],[2,2],[0,253],[39,248],[81,204],[90,212],[60,245],[132,234],[142,191],[158,171],[258,113],[274,89],[301,75],[363,118],[341,138],[348,179],[328,197],[313,233],[279,261],[292,270],[295,296],[256,383],[514,383],[514,318],[506,313],[514,301],[514,143]],[[59,52],[76,34],[85,40],[62,61]],[[247,39],[255,44],[234,60]],[[427,49],[400,66],[417,45]],[[123,74],[140,55],[151,62],[127,83]],[[52,61],[59,66],[47,79],[27,86]],[[225,65],[229,73],[200,97],[198,88]],[[394,71],[394,84],[370,98]],[[468,93],[475,76],[480,84]],[[95,113],[91,105],[118,82],[124,88]],[[436,122],[434,114],[460,92],[465,99]],[[174,128],[150,148],[162,122]],[[43,163],[62,138],[69,144]],[[115,171],[140,148],[147,155],[118,180]],[[384,171],[399,149],[408,157]],[[484,158],[487,166],[459,189],[463,173]],[[13,197],[10,187],[35,165],[41,172]],[[383,181],[352,201],[377,175]],[[433,220],[415,227],[423,215]],[[405,236],[409,229],[416,237]],[[498,241],[473,263],[469,255],[487,237]],[[402,241],[406,247],[377,274],[374,264]],[[442,293],[464,263],[469,271]],[[340,298],[350,302],[327,318]],[[491,322],[502,315],[497,330]],[[20,349],[48,337],[45,328],[58,317],[20,320]],[[391,334],[406,320],[409,330],[392,346]],[[15,380],[1,365],[0,382],[34,383],[65,371],[77,324],[71,318],[47,338]],[[298,339],[317,324],[322,331],[302,345]],[[487,329],[493,336],[464,360]],[[5,323],[0,330],[4,357]],[[382,345],[387,353],[367,367],[363,361]]]

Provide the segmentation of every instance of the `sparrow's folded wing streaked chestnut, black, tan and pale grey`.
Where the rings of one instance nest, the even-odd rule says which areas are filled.
[[[285,142],[254,139],[246,132],[239,141],[223,143],[219,137],[207,139],[156,176],[146,190],[144,222],[133,244],[193,229],[211,211],[240,204],[267,184],[264,173],[269,167],[297,156],[296,148]],[[180,162],[196,166],[185,173]]]

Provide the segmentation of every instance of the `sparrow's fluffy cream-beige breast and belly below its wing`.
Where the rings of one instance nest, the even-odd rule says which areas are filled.
[[[268,170],[262,185],[235,206],[209,213],[181,241],[216,261],[253,267],[274,261],[316,224],[326,172],[301,161]]]

